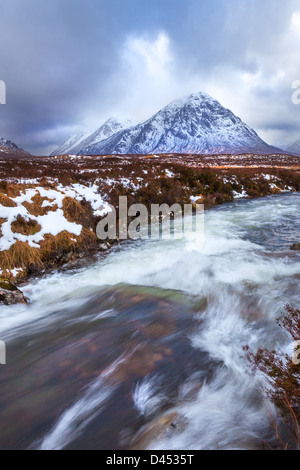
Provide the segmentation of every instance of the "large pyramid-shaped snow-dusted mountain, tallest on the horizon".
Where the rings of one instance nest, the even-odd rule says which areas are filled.
[[[81,149],[85,155],[282,152],[206,93],[175,100],[148,121]]]

